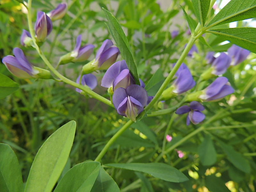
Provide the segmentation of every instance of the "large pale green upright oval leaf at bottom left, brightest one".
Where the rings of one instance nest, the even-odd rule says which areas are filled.
[[[25,192],[50,192],[67,163],[76,131],[76,122],[60,127],[38,150],[31,166]]]

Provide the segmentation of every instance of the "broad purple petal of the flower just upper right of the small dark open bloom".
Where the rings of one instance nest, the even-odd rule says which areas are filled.
[[[218,94],[222,87],[227,83],[228,79],[226,77],[218,77],[215,81],[212,82],[212,84],[206,87],[207,98],[213,97],[214,95]]]

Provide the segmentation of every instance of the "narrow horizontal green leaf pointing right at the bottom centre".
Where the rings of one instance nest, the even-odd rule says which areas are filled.
[[[179,183],[188,180],[182,172],[171,165],[163,163],[113,163],[105,164],[105,166],[144,172],[152,175],[153,177],[170,182]]]

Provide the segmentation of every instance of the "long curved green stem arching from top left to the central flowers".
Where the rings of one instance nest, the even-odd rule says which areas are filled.
[[[38,52],[38,54],[40,55],[40,57],[42,58],[42,60],[44,61],[44,63],[47,65],[48,68],[50,68],[50,70],[57,76],[59,77],[63,82],[70,84],[78,89],[83,90],[84,92],[88,93],[89,95],[91,95],[93,98],[100,100],[101,102],[111,106],[114,108],[113,104],[111,103],[110,100],[100,96],[99,94],[93,92],[89,87],[77,84],[74,81],[71,81],[70,79],[62,76],[53,66],[52,64],[47,60],[47,58],[45,57],[44,53],[40,50],[39,46],[36,44],[36,38],[35,38],[35,31],[33,29],[32,26],[32,18],[31,18],[31,4],[32,4],[32,0],[28,0],[28,28],[29,28],[29,32],[31,34],[33,43],[35,45],[36,51]]]

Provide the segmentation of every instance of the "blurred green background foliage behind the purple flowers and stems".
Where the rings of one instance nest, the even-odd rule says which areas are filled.
[[[38,10],[49,12],[61,2],[33,0],[34,22]],[[112,39],[105,24],[105,14],[101,10],[101,7],[104,7],[112,12],[122,25],[137,63],[139,77],[146,83],[158,68],[166,76],[188,41],[188,26],[179,4],[195,19],[189,0],[159,2],[156,0],[72,0],[67,3],[68,13],[60,21],[53,23],[53,31],[41,47],[52,64],[56,65],[61,55],[74,48],[79,34],[83,35],[83,44],[90,43],[96,46],[94,55],[105,39]],[[221,2],[217,1],[217,3]],[[211,14],[213,13],[214,10]],[[247,26],[248,22],[239,21],[236,25]],[[222,27],[225,26],[228,27],[228,24]],[[20,47],[26,52],[31,63],[45,68],[43,61],[33,48],[21,47],[22,29],[28,29],[28,25],[26,8],[21,1],[0,0],[1,60],[5,55],[12,55],[14,47]],[[171,32],[174,30],[179,30],[179,35],[172,38]],[[223,40],[212,34],[206,34],[203,40],[197,41],[196,46],[199,52],[195,53],[193,58],[185,60],[195,80],[198,80],[200,74],[209,67],[204,59],[207,52],[224,52],[231,45],[223,43]],[[177,147],[177,150],[182,150],[185,156],[179,158],[177,151],[173,150],[160,160],[180,169],[188,176],[189,181],[172,183],[157,180],[150,175],[109,168],[108,173],[114,178],[121,191],[255,191],[255,58],[254,53],[250,54],[247,60],[224,74],[236,92],[226,97],[227,100],[204,103],[205,121],[216,114],[218,118],[205,125],[209,128],[208,131],[196,134]],[[119,56],[120,59],[121,56]],[[61,66],[60,71],[68,78],[76,80],[85,63],[69,63]],[[9,144],[15,150],[24,181],[28,177],[38,148],[61,125],[70,120],[77,122],[74,145],[66,165],[66,168],[69,168],[85,160],[93,160],[110,136],[127,121],[113,108],[89,96],[80,95],[74,87],[69,85],[53,80],[18,79],[9,73],[4,64],[0,65],[0,73],[20,84],[17,92],[0,100],[0,141]],[[98,78],[95,92],[108,98],[107,90],[100,86],[104,73],[95,73],[95,75]],[[207,84],[204,84],[204,87]],[[170,108],[182,97],[167,101],[163,106],[155,106],[152,111],[158,110],[159,107]],[[104,156],[103,164],[154,162],[161,153],[164,131],[171,116],[172,113],[146,117],[137,124],[133,124]],[[168,133],[173,139],[167,143],[167,148],[201,126],[200,124],[187,126],[184,115],[174,118],[171,131]],[[236,129],[216,128],[237,125],[241,126]],[[202,151],[202,147],[200,148],[202,145],[209,145],[210,149]],[[202,154],[210,159],[216,156],[217,159],[207,163],[202,160]]]

